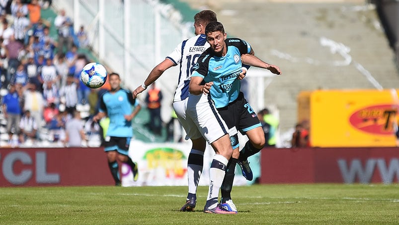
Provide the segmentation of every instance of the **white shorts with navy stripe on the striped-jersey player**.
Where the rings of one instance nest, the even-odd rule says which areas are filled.
[[[183,101],[174,102],[173,109],[187,133],[186,140],[203,136],[211,144],[229,133],[226,122],[207,95],[189,95]]]

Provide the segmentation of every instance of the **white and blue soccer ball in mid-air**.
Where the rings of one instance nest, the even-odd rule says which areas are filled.
[[[89,88],[99,88],[107,80],[107,71],[99,63],[89,63],[83,67],[80,80]]]

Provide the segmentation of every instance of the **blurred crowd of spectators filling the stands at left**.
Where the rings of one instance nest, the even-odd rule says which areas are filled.
[[[92,90],[81,83],[80,72],[89,60],[78,50],[88,47],[87,34],[83,26],[74,30],[63,9],[54,23],[43,19],[42,8],[50,4],[0,0],[0,110],[6,121],[6,130],[0,131],[8,134],[13,147],[38,140],[67,145],[68,121],[79,118],[76,111],[90,118],[98,109],[99,95],[110,88],[105,84]],[[57,30],[55,38],[51,26]],[[98,131],[90,121],[83,128],[87,134]]]

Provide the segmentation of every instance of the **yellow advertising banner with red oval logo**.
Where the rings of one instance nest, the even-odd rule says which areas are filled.
[[[398,90],[319,90],[310,97],[314,147],[396,146]]]

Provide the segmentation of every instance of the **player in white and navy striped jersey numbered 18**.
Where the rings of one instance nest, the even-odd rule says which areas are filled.
[[[217,21],[216,13],[203,10],[194,16],[196,36],[181,42],[175,50],[157,65],[143,85],[133,91],[133,97],[146,90],[162,73],[172,66],[180,66],[177,88],[173,97],[173,108],[177,118],[192,141],[192,149],[188,156],[188,195],[186,204],[180,211],[193,211],[196,206],[196,192],[198,181],[203,169],[203,158],[206,141],[215,149],[210,168],[210,186],[205,213],[236,214],[229,212],[218,204],[219,190],[225,175],[227,163],[233,153],[226,123],[215,109],[213,102],[207,95],[193,96],[188,92],[191,73],[194,70],[198,57],[209,47],[204,35],[206,25]],[[205,140],[206,139],[206,140]],[[209,203],[208,203],[209,202]]]

